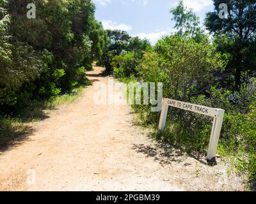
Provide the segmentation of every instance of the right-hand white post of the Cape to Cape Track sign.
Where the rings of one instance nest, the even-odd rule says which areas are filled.
[[[220,110],[218,117],[214,117],[214,120],[212,122],[212,133],[211,133],[211,139],[210,139],[209,149],[207,153],[208,161],[212,161],[212,159],[216,157],[217,146],[220,138],[224,112],[225,112],[224,110]]]

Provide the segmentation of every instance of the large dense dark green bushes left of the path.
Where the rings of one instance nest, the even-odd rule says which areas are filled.
[[[35,19],[29,3],[0,1],[0,113],[72,91],[103,54],[91,0],[35,0]]]

